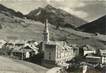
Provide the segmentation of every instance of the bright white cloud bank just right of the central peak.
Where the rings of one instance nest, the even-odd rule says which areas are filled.
[[[80,8],[80,7],[84,7],[85,3],[78,1],[78,0],[47,0],[49,1],[49,4],[57,7],[57,8],[61,8],[69,13],[71,13],[72,15],[78,16],[80,18],[86,18],[88,16],[88,14],[84,11],[76,11],[74,10],[74,8]]]

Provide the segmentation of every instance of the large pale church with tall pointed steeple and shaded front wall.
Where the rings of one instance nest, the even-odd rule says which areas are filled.
[[[73,48],[68,46],[64,41],[49,40],[48,20],[45,21],[44,38],[43,38],[43,63],[57,66],[66,65],[74,56]]]

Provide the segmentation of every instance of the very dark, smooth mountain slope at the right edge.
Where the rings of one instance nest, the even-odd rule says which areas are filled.
[[[106,15],[93,21],[78,27],[79,30],[88,33],[100,33],[106,35]]]

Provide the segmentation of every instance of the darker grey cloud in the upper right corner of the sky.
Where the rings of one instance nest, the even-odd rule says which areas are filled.
[[[106,15],[106,2],[104,1],[93,1],[84,2],[86,5],[84,7],[74,8],[76,11],[83,11],[89,14],[85,19],[92,21],[103,15]]]

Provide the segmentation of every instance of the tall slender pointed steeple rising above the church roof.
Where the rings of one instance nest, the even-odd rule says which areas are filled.
[[[43,41],[45,43],[47,43],[47,42],[49,42],[48,19],[45,20],[44,24],[45,24],[45,28],[44,28],[44,33],[43,33],[43,35],[44,35],[44,40]]]

